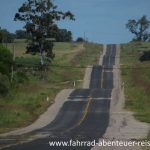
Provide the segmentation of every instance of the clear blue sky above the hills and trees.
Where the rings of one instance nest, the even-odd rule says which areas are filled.
[[[10,32],[22,29],[13,21],[18,8],[26,0],[0,0],[0,27]],[[150,0],[53,0],[58,9],[70,10],[75,21],[61,21],[60,28],[73,33],[73,38],[86,37],[103,44],[129,42],[133,35],[126,29],[129,19],[146,15],[150,19]]]

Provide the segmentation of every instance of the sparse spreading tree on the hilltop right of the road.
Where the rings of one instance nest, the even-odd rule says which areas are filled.
[[[150,34],[148,29],[150,27],[150,21],[146,16],[142,16],[139,20],[130,19],[126,24],[126,28],[135,35],[136,41],[147,41]]]

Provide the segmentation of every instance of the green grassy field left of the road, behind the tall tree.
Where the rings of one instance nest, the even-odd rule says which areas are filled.
[[[7,47],[12,49],[11,44]],[[16,58],[38,62],[38,56],[25,54],[25,47],[26,43],[15,43]],[[27,73],[28,80],[25,83],[18,84],[6,98],[0,99],[0,133],[32,123],[54,103],[60,90],[74,88],[73,81],[76,81],[75,88],[80,88],[85,66],[96,64],[101,50],[101,45],[92,43],[55,43],[56,57],[46,80]]]

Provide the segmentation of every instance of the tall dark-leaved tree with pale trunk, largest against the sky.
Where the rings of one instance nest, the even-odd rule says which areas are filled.
[[[48,32],[57,32],[56,22],[69,18],[74,20],[74,15],[70,12],[57,10],[57,6],[52,0],[27,0],[18,9],[15,20],[25,22],[24,28],[32,37],[27,46],[27,53],[37,53],[41,55],[41,65],[45,64],[45,54],[53,59],[53,42],[46,41]]]

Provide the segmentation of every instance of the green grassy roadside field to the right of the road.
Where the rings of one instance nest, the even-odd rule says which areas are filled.
[[[140,62],[142,51],[150,50],[150,43],[133,42],[121,46],[121,74],[125,82],[126,109],[135,117],[150,123],[150,61]]]

